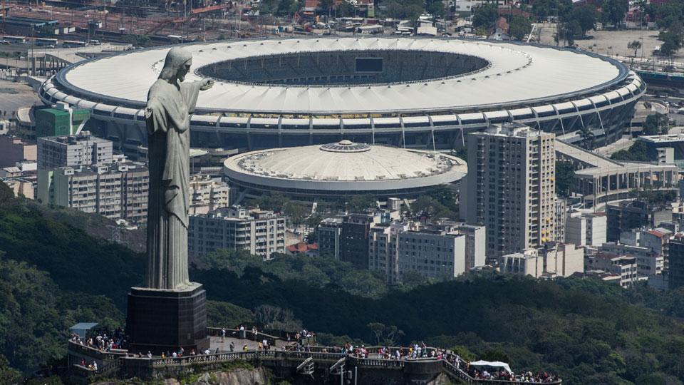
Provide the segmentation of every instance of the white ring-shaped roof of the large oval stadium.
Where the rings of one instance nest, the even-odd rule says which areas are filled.
[[[591,53],[490,41],[414,38],[284,39],[194,43],[193,69],[254,56],[316,51],[415,50],[460,53],[484,58],[484,70],[452,78],[411,83],[353,86],[269,86],[219,81],[199,96],[203,111],[252,113],[383,113],[467,111],[486,106],[519,106],[591,93],[620,81],[625,68]],[[73,66],[69,87],[100,101],[142,106],[169,48],[152,48]],[[189,73],[187,81],[198,80]],[[596,92],[601,91],[596,89]]]

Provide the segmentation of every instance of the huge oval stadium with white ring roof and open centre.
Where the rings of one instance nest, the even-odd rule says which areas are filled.
[[[334,143],[453,148],[492,123],[517,121],[573,141],[619,138],[646,91],[594,53],[522,43],[414,37],[313,37],[191,43],[210,77],[192,116],[192,145],[259,148]],[[46,103],[89,108],[89,129],[124,148],[146,140],[142,108],[169,47],[64,68]]]

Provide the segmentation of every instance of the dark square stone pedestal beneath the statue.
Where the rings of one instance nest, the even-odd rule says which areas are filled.
[[[202,284],[195,282],[177,290],[131,287],[126,316],[128,351],[160,354],[181,347],[185,354],[192,349],[204,351],[209,347],[206,300]]]

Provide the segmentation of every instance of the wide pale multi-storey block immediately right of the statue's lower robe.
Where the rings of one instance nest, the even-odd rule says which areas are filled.
[[[187,247],[192,256],[218,249],[248,250],[269,260],[272,254],[285,252],[285,217],[241,206],[191,215]]]

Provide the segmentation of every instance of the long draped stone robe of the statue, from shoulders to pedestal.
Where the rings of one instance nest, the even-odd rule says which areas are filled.
[[[190,199],[190,113],[200,82],[178,86],[157,80],[147,94],[147,287],[182,289],[187,272]]]

